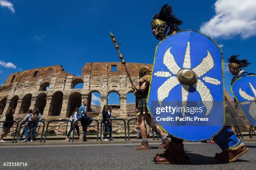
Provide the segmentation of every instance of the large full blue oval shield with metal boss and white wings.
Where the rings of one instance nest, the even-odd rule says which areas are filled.
[[[200,32],[184,30],[156,47],[148,110],[167,133],[206,140],[224,124],[223,55]]]

